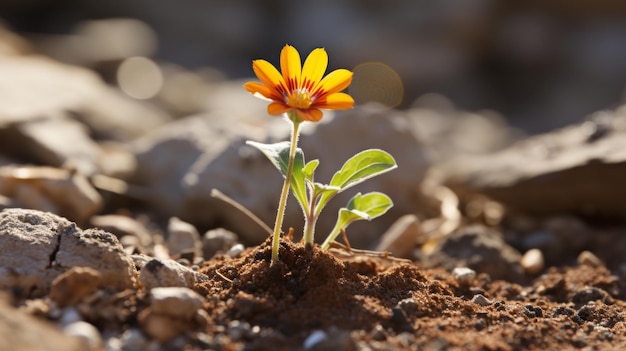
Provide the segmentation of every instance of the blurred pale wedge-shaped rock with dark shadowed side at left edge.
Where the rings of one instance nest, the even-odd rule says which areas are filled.
[[[26,163],[75,169],[86,176],[99,171],[101,150],[76,120],[57,117],[14,123],[0,127],[0,138],[0,152]]]

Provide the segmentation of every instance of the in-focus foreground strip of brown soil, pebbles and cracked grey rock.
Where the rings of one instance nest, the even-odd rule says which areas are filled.
[[[0,217],[2,349],[626,348],[624,276],[589,252],[526,283],[291,238],[276,263],[268,240],[191,264],[49,213]]]

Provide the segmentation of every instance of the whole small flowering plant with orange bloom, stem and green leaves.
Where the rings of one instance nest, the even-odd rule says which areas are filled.
[[[281,227],[290,187],[304,212],[303,240],[305,244],[313,245],[317,219],[335,195],[396,168],[391,155],[382,150],[370,149],[347,160],[329,184],[315,182],[314,173],[319,161],[306,163],[304,152],[297,147],[300,125],[303,122],[319,122],[323,116],[320,109],[345,110],[354,105],[352,97],[341,92],[350,85],[352,72],[337,69],[324,77],[327,65],[328,55],[322,48],[313,50],[302,66],[298,51],[293,46],[285,45],[280,54],[282,74],[271,63],[254,60],[252,68],[261,82],[244,84],[249,92],[271,101],[267,107],[270,115],[284,114],[292,125],[289,142],[262,144],[248,141],[248,144],[261,150],[285,178],[272,235],[272,261],[278,260]],[[391,206],[391,199],[383,193],[355,195],[346,207],[339,210],[337,223],[322,244],[322,249],[327,249],[350,223],[376,218]]]

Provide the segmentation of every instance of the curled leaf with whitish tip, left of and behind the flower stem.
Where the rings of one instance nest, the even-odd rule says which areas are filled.
[[[248,140],[246,141],[246,144],[261,150],[261,152],[263,152],[263,154],[265,154],[265,156],[272,161],[272,164],[280,171],[283,177],[287,176],[290,148],[290,143],[288,141],[275,144],[263,144]],[[291,170],[291,179],[289,179],[289,184],[291,185],[291,191],[293,192],[296,200],[298,200],[300,206],[306,210],[309,206],[306,196],[304,152],[302,149],[296,148],[293,161],[293,169]],[[311,162],[309,162],[309,164],[311,164]],[[314,166],[309,166],[309,168],[311,167],[315,169]]]

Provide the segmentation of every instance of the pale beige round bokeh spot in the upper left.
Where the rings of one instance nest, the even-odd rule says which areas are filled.
[[[117,84],[135,99],[150,99],[163,87],[163,73],[159,66],[145,57],[131,57],[117,69]]]

